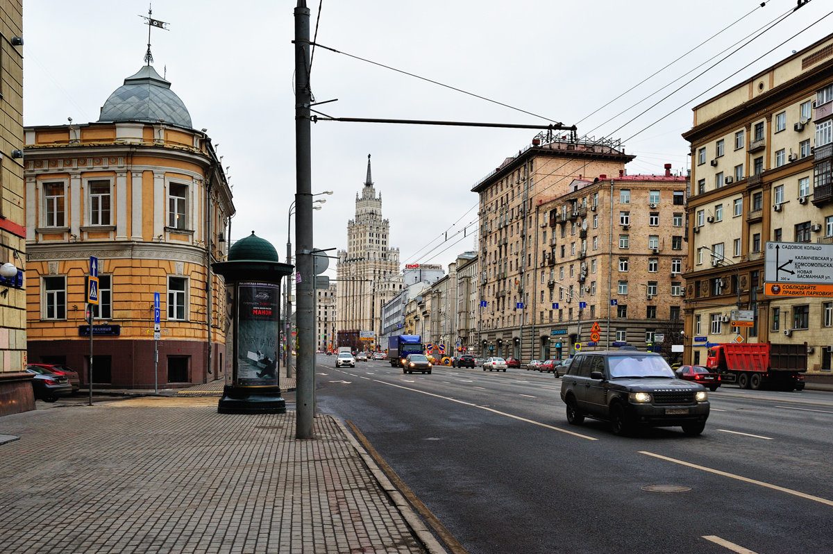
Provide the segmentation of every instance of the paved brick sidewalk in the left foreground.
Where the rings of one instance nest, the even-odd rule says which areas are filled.
[[[445,552],[320,414],[136,397],[0,417],[2,552]]]

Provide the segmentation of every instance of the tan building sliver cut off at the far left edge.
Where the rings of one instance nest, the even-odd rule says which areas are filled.
[[[26,241],[23,187],[22,2],[2,3],[0,16],[0,416],[35,406],[26,368],[26,294],[22,268]],[[15,270],[17,268],[17,271]],[[18,277],[19,276],[19,277]]]

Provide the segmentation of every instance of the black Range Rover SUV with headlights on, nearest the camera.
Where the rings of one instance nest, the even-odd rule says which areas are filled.
[[[567,422],[608,421],[616,435],[636,425],[679,425],[686,435],[699,435],[709,417],[706,387],[676,378],[655,352],[577,354],[561,378],[561,400]]]

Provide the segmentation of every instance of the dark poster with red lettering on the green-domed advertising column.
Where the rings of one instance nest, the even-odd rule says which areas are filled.
[[[276,283],[237,284],[237,386],[277,387],[281,289]]]

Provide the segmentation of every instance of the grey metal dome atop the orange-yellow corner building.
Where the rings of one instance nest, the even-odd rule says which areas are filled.
[[[191,114],[171,90],[171,83],[149,65],[124,80],[104,102],[98,117],[100,122],[159,120],[192,128]]]

